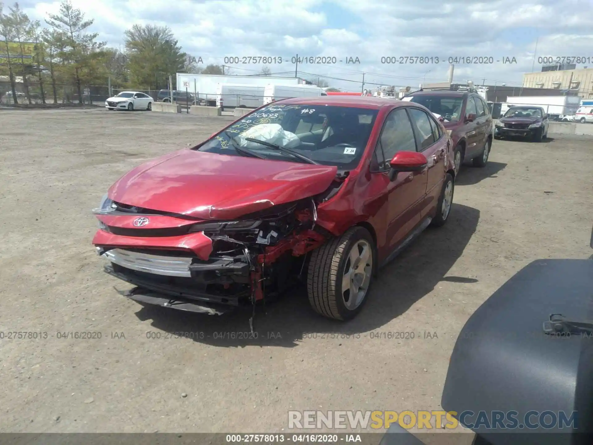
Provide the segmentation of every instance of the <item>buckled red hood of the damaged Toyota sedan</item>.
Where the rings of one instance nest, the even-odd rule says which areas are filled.
[[[335,166],[185,149],[136,167],[107,195],[121,204],[228,220],[317,195],[336,173]]]

